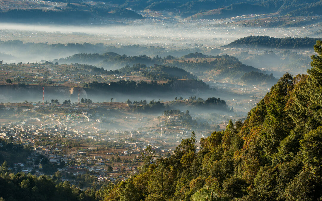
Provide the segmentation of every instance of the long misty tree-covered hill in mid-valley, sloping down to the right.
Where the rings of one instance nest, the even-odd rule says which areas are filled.
[[[261,70],[243,64],[236,57],[230,55],[208,56],[201,52],[189,53],[180,58],[175,58],[170,55],[164,58],[159,56],[148,57],[147,55],[127,56],[114,52],[106,52],[104,54],[79,53],[67,58],[61,58],[59,62],[96,63],[99,67],[109,69],[122,67],[117,71],[110,71],[110,73],[118,74],[140,71],[142,76],[153,80],[173,80],[174,78],[193,79],[196,77],[189,72],[196,73],[199,76],[209,71],[215,71],[215,73],[210,73],[213,78],[240,79],[245,73],[252,71],[257,72],[257,77],[253,77],[254,80],[259,79],[258,77],[265,77],[265,74]],[[247,74],[245,76],[252,78],[252,75]],[[262,81],[270,86],[273,84],[269,80]],[[275,83],[276,80],[273,81]],[[250,80],[248,84],[258,84],[258,82],[252,82]]]

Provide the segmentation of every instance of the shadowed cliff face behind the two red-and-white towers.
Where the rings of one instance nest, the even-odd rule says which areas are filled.
[[[59,102],[71,100],[78,101],[78,90],[80,89],[80,98],[90,98],[94,102],[109,102],[110,98],[113,101],[122,102],[128,99],[132,100],[152,100],[152,99],[173,99],[173,97],[195,96],[207,92],[209,86],[203,82],[196,80],[177,80],[170,84],[170,88],[166,91],[143,91],[143,92],[123,92],[120,91],[105,91],[99,89],[89,89],[81,87],[59,87],[45,86],[45,101],[58,99]],[[0,103],[6,102],[38,102],[43,100],[43,86],[14,86],[0,85]]]

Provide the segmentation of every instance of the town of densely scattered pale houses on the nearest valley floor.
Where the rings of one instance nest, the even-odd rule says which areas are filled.
[[[68,108],[73,113],[51,113],[30,117],[33,113],[40,114],[49,106],[50,104],[0,106],[3,114],[7,112],[26,114],[24,117],[21,115],[21,119],[0,123],[0,139],[32,147],[31,155],[26,162],[10,166],[14,172],[42,175],[53,174],[58,170],[66,175],[77,176],[89,171],[96,182],[117,182],[136,174],[137,168],[142,163],[140,153],[147,146],[151,146],[158,158],[168,157],[173,154],[175,146],[181,139],[191,134],[191,129],[166,126],[160,129],[107,130],[104,126],[106,118],[96,118],[95,115],[82,111],[87,109],[84,105],[80,108],[55,105],[58,108]],[[124,121],[128,123],[147,121],[147,118],[125,116]],[[179,121],[176,115],[163,118],[175,123]],[[206,133],[199,135],[202,137]],[[54,167],[51,172],[43,171],[41,160],[44,158],[48,158]],[[70,176],[63,179],[69,180],[72,184],[76,182]]]

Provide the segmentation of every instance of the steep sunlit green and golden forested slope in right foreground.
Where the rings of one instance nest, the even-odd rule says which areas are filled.
[[[103,200],[319,200],[322,198],[322,41],[309,75],[285,74],[244,122],[174,155],[142,153],[140,173],[99,190]],[[99,193],[98,193],[99,194]]]

